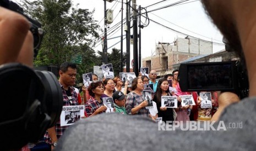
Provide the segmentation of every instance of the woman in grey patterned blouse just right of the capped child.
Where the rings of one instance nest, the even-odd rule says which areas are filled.
[[[141,78],[134,78],[132,81],[132,91],[127,95],[126,112],[127,114],[139,114],[149,117],[148,101],[143,98],[144,84]],[[150,116],[151,117],[151,116]]]

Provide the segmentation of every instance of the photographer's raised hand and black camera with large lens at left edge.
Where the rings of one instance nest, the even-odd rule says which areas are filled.
[[[37,142],[61,114],[63,98],[57,78],[32,69],[43,33],[40,22],[26,16],[18,4],[0,1],[1,112],[8,113],[0,119],[1,150]]]

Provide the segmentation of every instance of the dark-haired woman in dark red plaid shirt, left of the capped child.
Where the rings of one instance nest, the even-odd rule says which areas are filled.
[[[107,107],[104,106],[101,95],[104,94],[104,87],[102,82],[92,82],[88,91],[92,98],[85,103],[85,112],[89,116],[101,114],[106,111]]]

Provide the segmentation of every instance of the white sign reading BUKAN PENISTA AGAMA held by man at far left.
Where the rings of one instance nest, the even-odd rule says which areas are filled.
[[[63,106],[61,112],[61,126],[74,124],[84,117],[84,106]]]

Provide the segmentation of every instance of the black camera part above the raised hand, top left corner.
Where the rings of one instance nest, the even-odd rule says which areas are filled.
[[[25,15],[23,8],[19,7],[18,4],[14,3],[12,1],[1,0],[0,6],[10,9],[10,10],[13,10],[13,11],[25,16],[25,18],[31,22],[30,31],[32,32],[33,37],[34,37],[34,58],[35,58],[38,54],[40,45],[42,43],[43,34],[44,34],[44,31],[41,28],[42,27],[41,23],[35,19],[31,19],[28,15]]]

